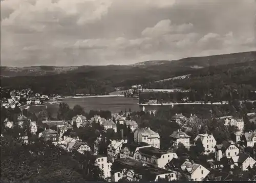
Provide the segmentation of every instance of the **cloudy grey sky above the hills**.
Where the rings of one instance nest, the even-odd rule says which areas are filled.
[[[2,66],[256,51],[256,0],[1,0]]]

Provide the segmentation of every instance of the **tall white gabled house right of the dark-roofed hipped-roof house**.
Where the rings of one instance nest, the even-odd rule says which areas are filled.
[[[215,152],[216,140],[214,138],[214,135],[207,134],[207,133],[199,134],[199,135],[197,135],[197,137],[194,141],[196,142],[198,139],[201,139],[201,141],[202,141],[202,144],[205,149],[205,154]]]

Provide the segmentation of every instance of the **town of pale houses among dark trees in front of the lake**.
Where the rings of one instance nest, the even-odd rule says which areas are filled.
[[[161,136],[163,129],[159,131],[156,127],[159,110],[148,111],[143,107],[141,111],[111,113],[91,110],[86,113],[78,105],[71,109],[67,104],[59,103],[58,117],[54,119],[47,105],[38,115],[22,108],[19,99],[25,98],[26,94],[31,94],[27,95],[27,101],[33,98],[49,100],[45,95],[32,95],[30,89],[11,91],[11,99],[3,99],[1,154],[7,151],[4,148],[9,142],[22,144],[19,148],[29,148],[33,155],[54,148],[61,154],[66,151],[77,157],[90,157],[94,161],[91,166],[98,167],[97,180],[104,181],[256,178],[254,112],[246,113],[242,118],[222,116],[206,122],[197,113],[188,116],[175,113],[169,119],[169,127],[165,126],[166,130],[172,130],[168,130],[168,139],[164,139]],[[6,101],[14,101],[15,107],[8,108]],[[27,101],[23,105],[36,104]],[[174,107],[169,110],[174,110]],[[139,118],[156,121],[146,125]],[[47,146],[48,150],[37,146]],[[37,169],[34,174],[40,173],[40,168]]]

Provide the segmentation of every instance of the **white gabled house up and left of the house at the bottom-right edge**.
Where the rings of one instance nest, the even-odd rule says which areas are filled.
[[[233,141],[223,141],[222,144],[217,144],[215,146],[215,157],[217,161],[224,156],[230,158],[232,156],[237,156],[239,154],[239,148]]]

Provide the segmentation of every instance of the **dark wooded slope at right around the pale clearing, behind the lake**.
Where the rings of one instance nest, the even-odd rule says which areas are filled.
[[[256,61],[209,66],[199,69],[189,78],[145,84],[146,88],[190,90],[189,93],[141,93],[141,102],[150,99],[166,102],[189,101],[221,102],[256,100]]]

